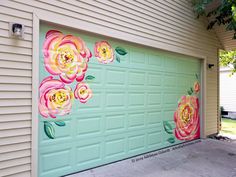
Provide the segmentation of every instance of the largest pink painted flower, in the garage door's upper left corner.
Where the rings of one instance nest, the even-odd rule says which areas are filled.
[[[50,30],[43,44],[44,64],[52,75],[59,75],[65,83],[84,79],[92,53],[79,37]]]

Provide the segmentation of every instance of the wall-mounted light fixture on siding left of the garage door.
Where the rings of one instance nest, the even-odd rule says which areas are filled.
[[[24,38],[24,25],[20,23],[10,23],[9,24],[9,32],[11,37],[15,38]]]

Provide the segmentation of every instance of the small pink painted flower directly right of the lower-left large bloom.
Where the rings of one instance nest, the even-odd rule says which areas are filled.
[[[81,103],[86,103],[92,97],[92,90],[88,84],[81,82],[76,85],[74,94],[75,98],[79,99]]]

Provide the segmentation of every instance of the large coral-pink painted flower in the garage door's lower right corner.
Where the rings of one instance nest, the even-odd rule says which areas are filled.
[[[200,137],[199,103],[196,96],[182,96],[174,113],[175,136],[179,140],[193,140]]]

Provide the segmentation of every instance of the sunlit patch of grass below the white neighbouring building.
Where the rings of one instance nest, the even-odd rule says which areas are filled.
[[[222,118],[220,133],[236,135],[236,120]]]

